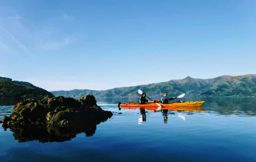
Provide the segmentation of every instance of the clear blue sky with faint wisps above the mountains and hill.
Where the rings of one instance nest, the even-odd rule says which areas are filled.
[[[0,76],[46,90],[256,73],[256,1],[1,1]]]

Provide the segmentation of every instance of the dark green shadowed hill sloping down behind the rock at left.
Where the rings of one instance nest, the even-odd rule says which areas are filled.
[[[45,96],[54,97],[51,92],[36,87],[29,82],[12,81],[10,78],[0,77],[0,97],[21,97],[21,98],[42,98]]]

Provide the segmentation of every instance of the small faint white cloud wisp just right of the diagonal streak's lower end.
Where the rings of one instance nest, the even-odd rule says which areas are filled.
[[[56,50],[56,49],[61,49],[71,43],[73,43],[72,40],[65,38],[65,39],[59,40],[59,41],[40,43],[39,47],[43,50]]]

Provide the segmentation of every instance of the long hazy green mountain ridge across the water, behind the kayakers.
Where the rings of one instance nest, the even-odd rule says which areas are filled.
[[[152,97],[160,97],[163,92],[168,96],[177,96],[186,93],[186,96],[206,97],[256,97],[256,74],[242,76],[223,75],[212,79],[195,79],[186,77],[179,80],[170,80],[160,83],[150,83],[131,87],[113,88],[110,90],[69,90],[52,91],[55,96],[69,96],[80,98],[91,94],[96,98],[138,97],[138,89],[150,94]]]

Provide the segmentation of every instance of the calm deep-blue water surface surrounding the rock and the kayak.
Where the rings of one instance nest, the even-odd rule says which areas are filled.
[[[112,118],[70,141],[18,142],[0,127],[0,161],[256,161],[256,98],[183,98],[205,100],[201,111],[117,107],[137,100],[97,99]],[[12,107],[0,106],[0,120]]]

